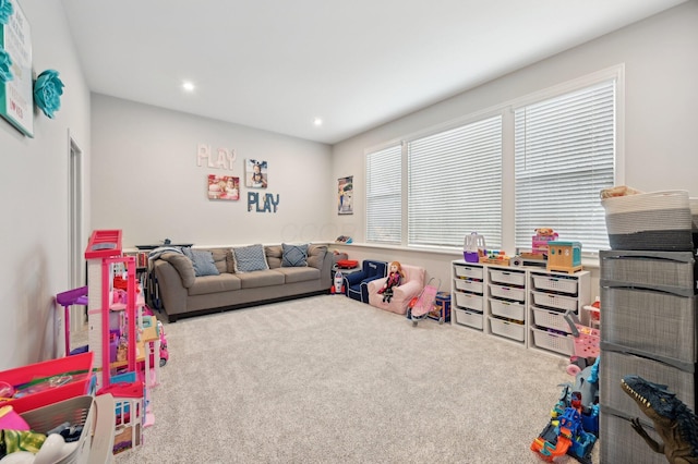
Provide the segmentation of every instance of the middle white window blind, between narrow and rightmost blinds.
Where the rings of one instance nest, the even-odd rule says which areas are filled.
[[[408,143],[408,244],[502,244],[502,117]]]

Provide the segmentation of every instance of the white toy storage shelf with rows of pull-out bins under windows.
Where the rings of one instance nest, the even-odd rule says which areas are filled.
[[[452,325],[521,347],[571,355],[574,339],[562,315],[571,309],[583,322],[580,309],[590,304],[590,295],[588,271],[570,274],[538,267],[452,261]]]

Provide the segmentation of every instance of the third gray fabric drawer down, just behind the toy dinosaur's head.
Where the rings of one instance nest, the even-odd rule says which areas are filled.
[[[604,346],[606,347],[606,346]],[[635,401],[623,391],[621,379],[636,375],[651,382],[669,386],[676,398],[696,411],[696,373],[678,369],[633,353],[604,350],[599,368],[599,400],[604,406],[613,407],[631,417],[642,416]],[[695,369],[694,369],[695,370]]]

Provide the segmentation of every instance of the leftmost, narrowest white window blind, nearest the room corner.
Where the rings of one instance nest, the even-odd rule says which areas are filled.
[[[402,147],[366,155],[366,242],[402,241]]]

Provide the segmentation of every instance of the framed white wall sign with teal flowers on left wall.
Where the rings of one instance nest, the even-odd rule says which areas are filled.
[[[0,115],[33,137],[32,30],[16,0],[0,5]]]

